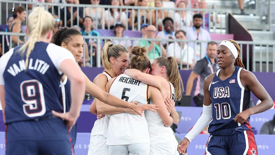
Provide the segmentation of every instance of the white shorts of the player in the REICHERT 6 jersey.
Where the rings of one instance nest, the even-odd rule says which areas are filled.
[[[110,145],[109,155],[149,155],[150,143]]]

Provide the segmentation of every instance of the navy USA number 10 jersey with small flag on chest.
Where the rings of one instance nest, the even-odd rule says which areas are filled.
[[[218,78],[220,69],[214,75],[209,85],[212,101],[212,120],[208,126],[211,135],[225,136],[251,128],[249,118],[244,124],[234,122],[236,115],[250,106],[250,91],[245,90],[241,84],[240,72],[243,68],[235,66],[229,78]]]

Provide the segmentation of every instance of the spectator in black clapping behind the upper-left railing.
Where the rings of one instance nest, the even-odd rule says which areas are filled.
[[[76,4],[79,3],[79,1],[75,1],[75,0],[66,0],[66,2],[68,4]],[[61,26],[65,26],[65,22],[67,24],[68,27],[71,27],[73,25],[77,25],[77,18],[78,18],[78,22],[79,22],[79,26],[83,27],[83,8],[78,8],[79,10],[79,14],[77,16],[77,8],[73,7],[73,10],[71,10],[71,7],[66,7],[61,9],[60,12],[60,25]],[[66,17],[65,16],[65,11],[67,12]],[[71,17],[71,11],[73,12],[73,17]],[[71,25],[71,20],[73,21],[73,25]]]

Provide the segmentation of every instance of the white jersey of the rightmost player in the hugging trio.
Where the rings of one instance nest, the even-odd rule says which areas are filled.
[[[170,91],[171,91],[170,98],[174,100],[175,89],[170,82],[169,84],[170,84]],[[148,104],[154,104],[154,103],[152,102],[151,99],[149,99]],[[157,112],[146,110],[145,117],[148,123],[151,145],[175,140],[173,130],[170,127],[166,127],[164,125],[162,119],[160,118],[160,115]]]

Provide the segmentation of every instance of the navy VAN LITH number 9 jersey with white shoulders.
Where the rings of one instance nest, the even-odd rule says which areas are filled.
[[[22,45],[21,45],[22,46]],[[54,44],[36,42],[25,70],[26,54],[12,48],[0,59],[0,85],[5,85],[6,122],[38,119],[63,112],[59,100],[60,63],[74,60],[71,52]]]

